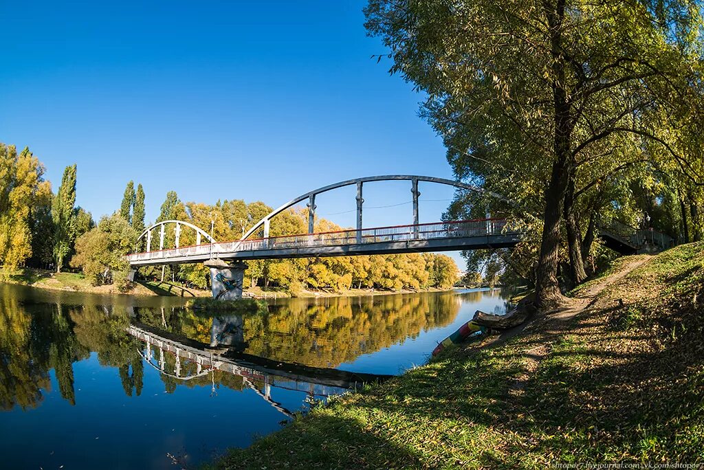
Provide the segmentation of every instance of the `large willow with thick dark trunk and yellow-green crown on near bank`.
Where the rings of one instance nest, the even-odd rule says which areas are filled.
[[[370,0],[366,27],[391,72],[427,94],[422,115],[458,177],[501,182],[541,205],[536,294],[560,300],[558,253],[570,181],[631,136],[683,170],[662,113],[701,96],[695,0]],[[515,185],[515,186],[513,186]],[[507,196],[514,196],[507,194]],[[532,200],[531,200],[532,198]]]

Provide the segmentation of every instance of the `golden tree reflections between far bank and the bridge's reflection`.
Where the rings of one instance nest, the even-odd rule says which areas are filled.
[[[473,293],[477,300],[481,293]],[[460,298],[452,293],[413,296],[287,300],[268,312],[244,317],[248,354],[314,367],[337,367],[455,319]],[[224,320],[191,310],[139,309],[139,321],[210,343],[213,323]],[[164,322],[165,325],[164,326]]]

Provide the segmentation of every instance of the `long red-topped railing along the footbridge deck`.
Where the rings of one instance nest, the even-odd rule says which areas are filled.
[[[210,255],[211,253],[213,258],[216,258],[220,253],[234,253],[239,251],[467,238],[499,235],[502,233],[518,232],[510,229],[505,219],[461,220],[458,222],[434,222],[430,224],[396,225],[392,227],[376,227],[362,230],[348,229],[315,234],[271,236],[267,239],[237,240],[213,243],[212,245],[185,246],[168,250],[135,253],[129,255],[129,258],[131,261],[168,260],[169,258],[187,258],[190,256]]]

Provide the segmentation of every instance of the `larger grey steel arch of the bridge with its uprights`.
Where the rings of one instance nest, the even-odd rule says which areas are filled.
[[[303,201],[308,200],[308,234],[313,234],[313,222],[315,220],[315,196],[318,196],[318,194],[325,193],[327,191],[331,191],[332,189],[338,189],[342,188],[344,186],[351,186],[353,184],[357,185],[357,229],[361,230],[363,229],[362,227],[362,214],[363,214],[363,203],[364,203],[364,198],[363,198],[363,184],[367,182],[379,182],[379,181],[410,181],[411,182],[411,193],[413,193],[413,224],[417,225],[418,224],[418,198],[420,196],[420,191],[418,191],[418,182],[429,182],[429,183],[436,183],[436,184],[446,184],[448,186],[454,186],[455,188],[458,189],[467,189],[469,191],[474,191],[477,193],[484,193],[488,194],[491,197],[498,198],[501,201],[505,201],[510,203],[507,198],[501,196],[500,194],[497,193],[492,193],[491,191],[486,191],[482,188],[479,188],[478,186],[473,186],[472,184],[466,184],[463,182],[458,182],[454,181],[452,179],[445,179],[445,178],[437,178],[437,177],[427,177],[427,176],[420,176],[420,175],[415,175],[415,174],[386,174],[383,176],[372,176],[372,177],[362,177],[362,178],[354,178],[354,179],[346,179],[345,181],[341,181],[338,183],[334,184],[328,184],[327,186],[322,186],[318,189],[314,189],[313,191],[308,191],[308,193],[301,194],[301,196],[298,196],[297,198],[291,199],[291,201],[285,203],[284,205],[279,206],[275,210],[272,210],[271,212],[268,213],[268,215],[265,215],[259,222],[254,224],[254,226],[249,229],[249,231],[246,232],[240,239],[240,241],[244,241],[249,236],[252,234],[256,233],[259,229],[263,228],[264,229],[264,236],[263,238],[267,239],[269,237],[269,225],[272,220],[272,218],[276,217],[279,215],[281,212],[284,210],[287,210],[288,208],[291,208],[292,206],[301,203]]]

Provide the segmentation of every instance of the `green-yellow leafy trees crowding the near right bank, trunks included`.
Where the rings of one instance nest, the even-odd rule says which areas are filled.
[[[498,267],[548,307],[610,256],[610,220],[702,239],[698,2],[370,0],[365,15],[455,176],[511,201],[460,193],[446,216],[524,222],[517,248],[466,253],[470,271]]]

